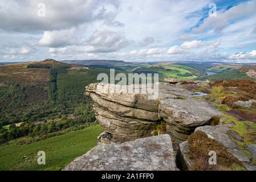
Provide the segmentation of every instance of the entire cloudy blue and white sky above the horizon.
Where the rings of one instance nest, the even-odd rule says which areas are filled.
[[[256,1],[1,0],[0,62],[256,63]]]

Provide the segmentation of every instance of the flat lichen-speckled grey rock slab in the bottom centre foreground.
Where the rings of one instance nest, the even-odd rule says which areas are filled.
[[[76,158],[64,171],[177,171],[169,135],[121,144],[100,144]]]

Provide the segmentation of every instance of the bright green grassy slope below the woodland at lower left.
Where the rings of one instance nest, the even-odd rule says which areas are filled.
[[[0,170],[60,170],[96,146],[100,125],[18,146],[0,146]],[[38,151],[46,152],[46,165],[38,165]]]

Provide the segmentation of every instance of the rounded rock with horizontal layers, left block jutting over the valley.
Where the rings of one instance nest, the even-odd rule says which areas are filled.
[[[103,85],[91,84],[87,95],[94,100],[96,119],[115,142],[151,136],[158,115],[158,101],[145,94],[105,94]]]

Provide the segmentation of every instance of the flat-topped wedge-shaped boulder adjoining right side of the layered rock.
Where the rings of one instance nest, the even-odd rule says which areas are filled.
[[[209,125],[213,116],[222,115],[209,102],[193,99],[161,100],[159,115],[168,123],[167,131],[178,140],[186,140],[198,126]]]

